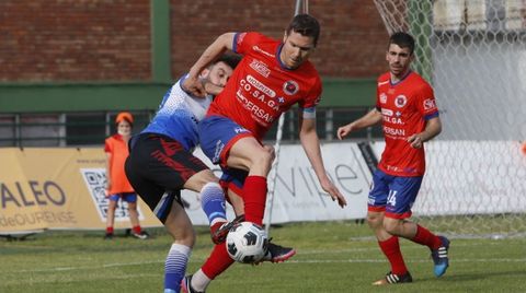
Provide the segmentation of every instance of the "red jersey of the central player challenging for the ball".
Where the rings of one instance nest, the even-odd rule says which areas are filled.
[[[321,95],[318,71],[308,60],[297,69],[285,68],[279,59],[282,46],[259,33],[236,34],[233,51],[243,59],[207,115],[228,117],[261,140],[294,104],[313,110]]]

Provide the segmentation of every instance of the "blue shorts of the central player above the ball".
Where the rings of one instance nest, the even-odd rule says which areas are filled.
[[[208,116],[198,126],[199,143],[211,163],[227,166],[230,148],[240,139],[253,137],[252,132],[222,116]]]

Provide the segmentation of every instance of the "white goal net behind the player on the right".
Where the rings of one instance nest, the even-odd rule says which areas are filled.
[[[416,40],[442,134],[426,145],[416,221],[459,235],[526,235],[526,1],[374,0]]]

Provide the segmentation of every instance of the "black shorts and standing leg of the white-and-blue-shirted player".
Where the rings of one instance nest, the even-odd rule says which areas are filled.
[[[180,291],[195,241],[192,223],[182,208],[180,190],[197,172],[172,157],[181,153],[184,149],[173,140],[141,134],[125,164],[126,176],[134,189],[174,237],[165,260],[164,292]],[[206,168],[204,164],[198,165],[199,171]]]

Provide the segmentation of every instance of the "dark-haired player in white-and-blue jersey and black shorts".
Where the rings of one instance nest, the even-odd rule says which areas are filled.
[[[198,143],[197,122],[211,103],[210,94],[222,90],[238,62],[237,56],[224,55],[201,72],[205,97],[186,93],[181,86],[186,75],[181,78],[164,95],[152,121],[129,143],[126,176],[174,239],[164,267],[165,293],[180,292],[195,243],[181,190],[199,192],[205,212],[215,211],[207,213],[213,232],[227,222],[218,178],[192,151]]]

